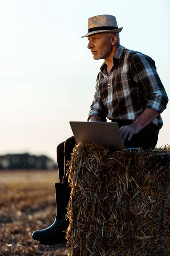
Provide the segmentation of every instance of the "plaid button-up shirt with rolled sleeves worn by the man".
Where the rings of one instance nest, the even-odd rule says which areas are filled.
[[[113,57],[113,66],[108,75],[104,62],[97,76],[96,91],[88,120],[93,115],[110,120],[136,120],[145,110],[152,108],[162,113],[168,97],[156,72],[152,58],[122,45]],[[161,128],[161,116],[153,120]]]

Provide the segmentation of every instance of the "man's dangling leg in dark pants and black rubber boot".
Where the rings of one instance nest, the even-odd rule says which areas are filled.
[[[39,241],[40,244],[59,244],[65,241],[64,231],[68,227],[65,213],[67,212],[71,192],[71,188],[68,187],[68,178],[65,177],[67,173],[66,163],[71,159],[71,152],[75,144],[74,137],[71,137],[57,146],[57,165],[60,182],[55,183],[56,219],[50,227],[44,230],[36,230],[32,234],[32,238]],[[63,183],[61,183],[62,180]]]

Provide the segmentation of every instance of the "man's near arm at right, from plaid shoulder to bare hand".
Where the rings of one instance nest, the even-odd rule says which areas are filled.
[[[131,61],[131,73],[139,90],[147,99],[147,105],[144,112],[132,125],[120,128],[124,141],[130,140],[133,134],[138,134],[152,122],[159,113],[166,109],[168,102],[167,93],[156,72],[155,63],[150,57],[141,53],[134,54]]]

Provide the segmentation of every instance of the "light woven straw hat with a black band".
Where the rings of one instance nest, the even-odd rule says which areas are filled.
[[[98,15],[88,19],[88,33],[83,37],[100,32],[121,32],[123,28],[118,28],[116,18],[112,15]]]

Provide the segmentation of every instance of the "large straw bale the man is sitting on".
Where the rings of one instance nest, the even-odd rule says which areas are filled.
[[[68,163],[68,256],[170,256],[170,148],[78,144]]]

